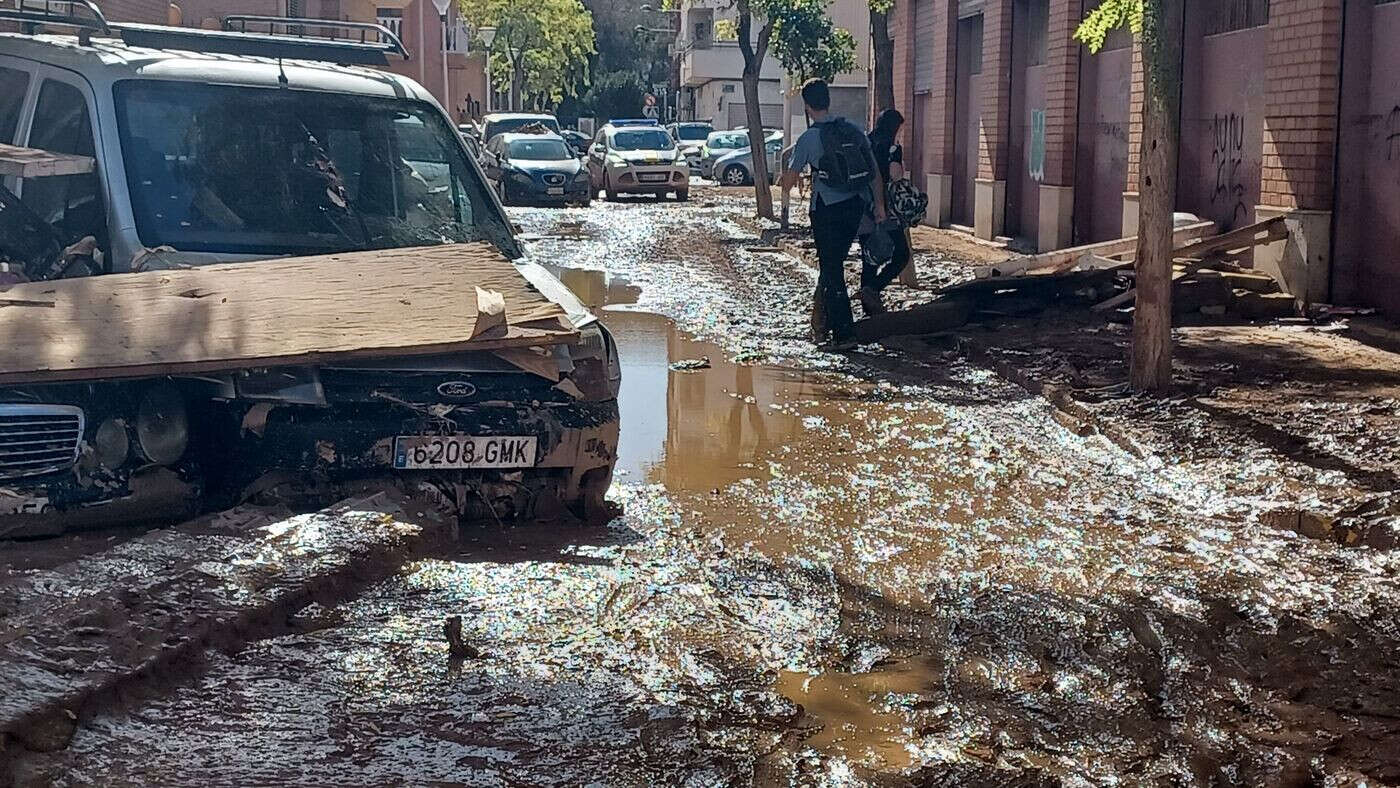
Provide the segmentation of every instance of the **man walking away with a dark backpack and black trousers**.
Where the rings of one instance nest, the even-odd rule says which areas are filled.
[[[855,332],[851,297],[846,291],[846,256],[867,213],[872,211],[876,223],[885,221],[885,183],[865,134],[850,120],[830,115],[826,81],[804,83],[802,104],[811,126],[792,146],[792,160],[780,185],[791,189],[798,174],[812,168],[809,216],[820,263],[816,308],[825,314],[825,323],[812,321],[813,333],[827,350],[850,350],[855,346]]]

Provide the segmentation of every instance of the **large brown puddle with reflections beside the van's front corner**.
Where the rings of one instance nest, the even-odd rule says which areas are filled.
[[[820,399],[823,384],[781,367],[734,364],[714,344],[694,342],[669,319],[629,309],[640,290],[605,272],[554,269],[556,276],[617,340],[623,361],[623,483],[673,491],[721,488],[766,473],[766,459],[802,431],[785,402]],[[697,370],[675,363],[707,361]]]

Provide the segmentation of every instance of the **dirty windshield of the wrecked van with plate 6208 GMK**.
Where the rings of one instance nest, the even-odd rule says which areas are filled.
[[[118,84],[116,108],[146,246],[512,246],[456,133],[424,104],[139,80]]]

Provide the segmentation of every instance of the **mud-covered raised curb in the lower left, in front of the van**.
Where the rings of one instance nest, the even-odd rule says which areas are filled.
[[[98,698],[396,570],[440,533],[405,502],[378,493],[234,528],[225,512],[0,585],[0,784],[25,750],[66,747]]]

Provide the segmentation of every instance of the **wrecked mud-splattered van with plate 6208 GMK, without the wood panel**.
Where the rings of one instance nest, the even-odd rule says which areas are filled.
[[[175,28],[83,32],[0,34],[0,85],[20,97],[0,101],[0,143],[95,160],[91,172],[0,179],[0,276],[487,242],[580,339],[540,349],[567,385],[493,351],[6,384],[0,535],[171,519],[288,481],[382,474],[438,490],[462,516],[605,511],[616,344],[557,279],[519,259],[511,223],[427,90],[343,64],[346,45],[328,39],[200,31],[192,52]],[[307,62],[328,49],[333,69]],[[192,343],[206,330],[132,318]],[[406,458],[405,445],[427,438],[459,451]],[[504,462],[465,449],[491,441],[531,451]]]

